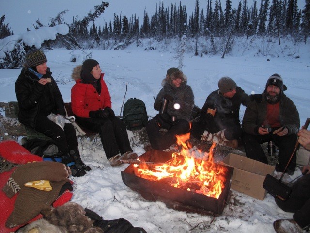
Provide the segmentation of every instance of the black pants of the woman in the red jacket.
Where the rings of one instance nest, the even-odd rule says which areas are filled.
[[[116,116],[109,118],[81,118],[76,116],[79,124],[85,128],[98,132],[103,150],[107,158],[132,151],[128,139],[126,125]]]

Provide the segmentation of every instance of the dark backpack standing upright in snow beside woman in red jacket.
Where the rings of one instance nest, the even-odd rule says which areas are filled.
[[[148,116],[144,102],[137,98],[127,100],[123,109],[123,121],[128,130],[140,130],[145,127]]]

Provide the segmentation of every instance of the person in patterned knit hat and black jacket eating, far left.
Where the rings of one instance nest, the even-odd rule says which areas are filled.
[[[72,124],[61,126],[50,120],[50,114],[66,116],[62,94],[47,66],[47,57],[40,49],[26,54],[26,63],[15,83],[19,106],[18,120],[55,141],[63,163],[70,164],[73,176],[83,176],[86,166],[78,151],[78,139]]]

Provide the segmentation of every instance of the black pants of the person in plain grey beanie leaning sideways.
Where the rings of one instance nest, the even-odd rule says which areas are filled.
[[[227,140],[241,139],[242,128],[239,123],[231,123],[218,127],[217,124],[203,124],[202,122],[193,122],[190,133],[196,139],[201,139],[203,132],[206,130],[209,133],[217,133],[218,131],[225,130],[224,136]]]

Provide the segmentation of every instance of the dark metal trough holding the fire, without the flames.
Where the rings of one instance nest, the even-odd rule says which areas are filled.
[[[143,162],[164,163],[171,159],[172,153],[160,150],[149,150],[139,159]],[[208,197],[203,194],[175,188],[161,181],[150,181],[135,175],[136,168],[133,164],[122,171],[122,179],[126,186],[140,193],[150,201],[162,201],[168,208],[199,213],[202,215],[221,214],[228,198],[232,183],[233,167],[227,168],[225,187],[219,198]]]

